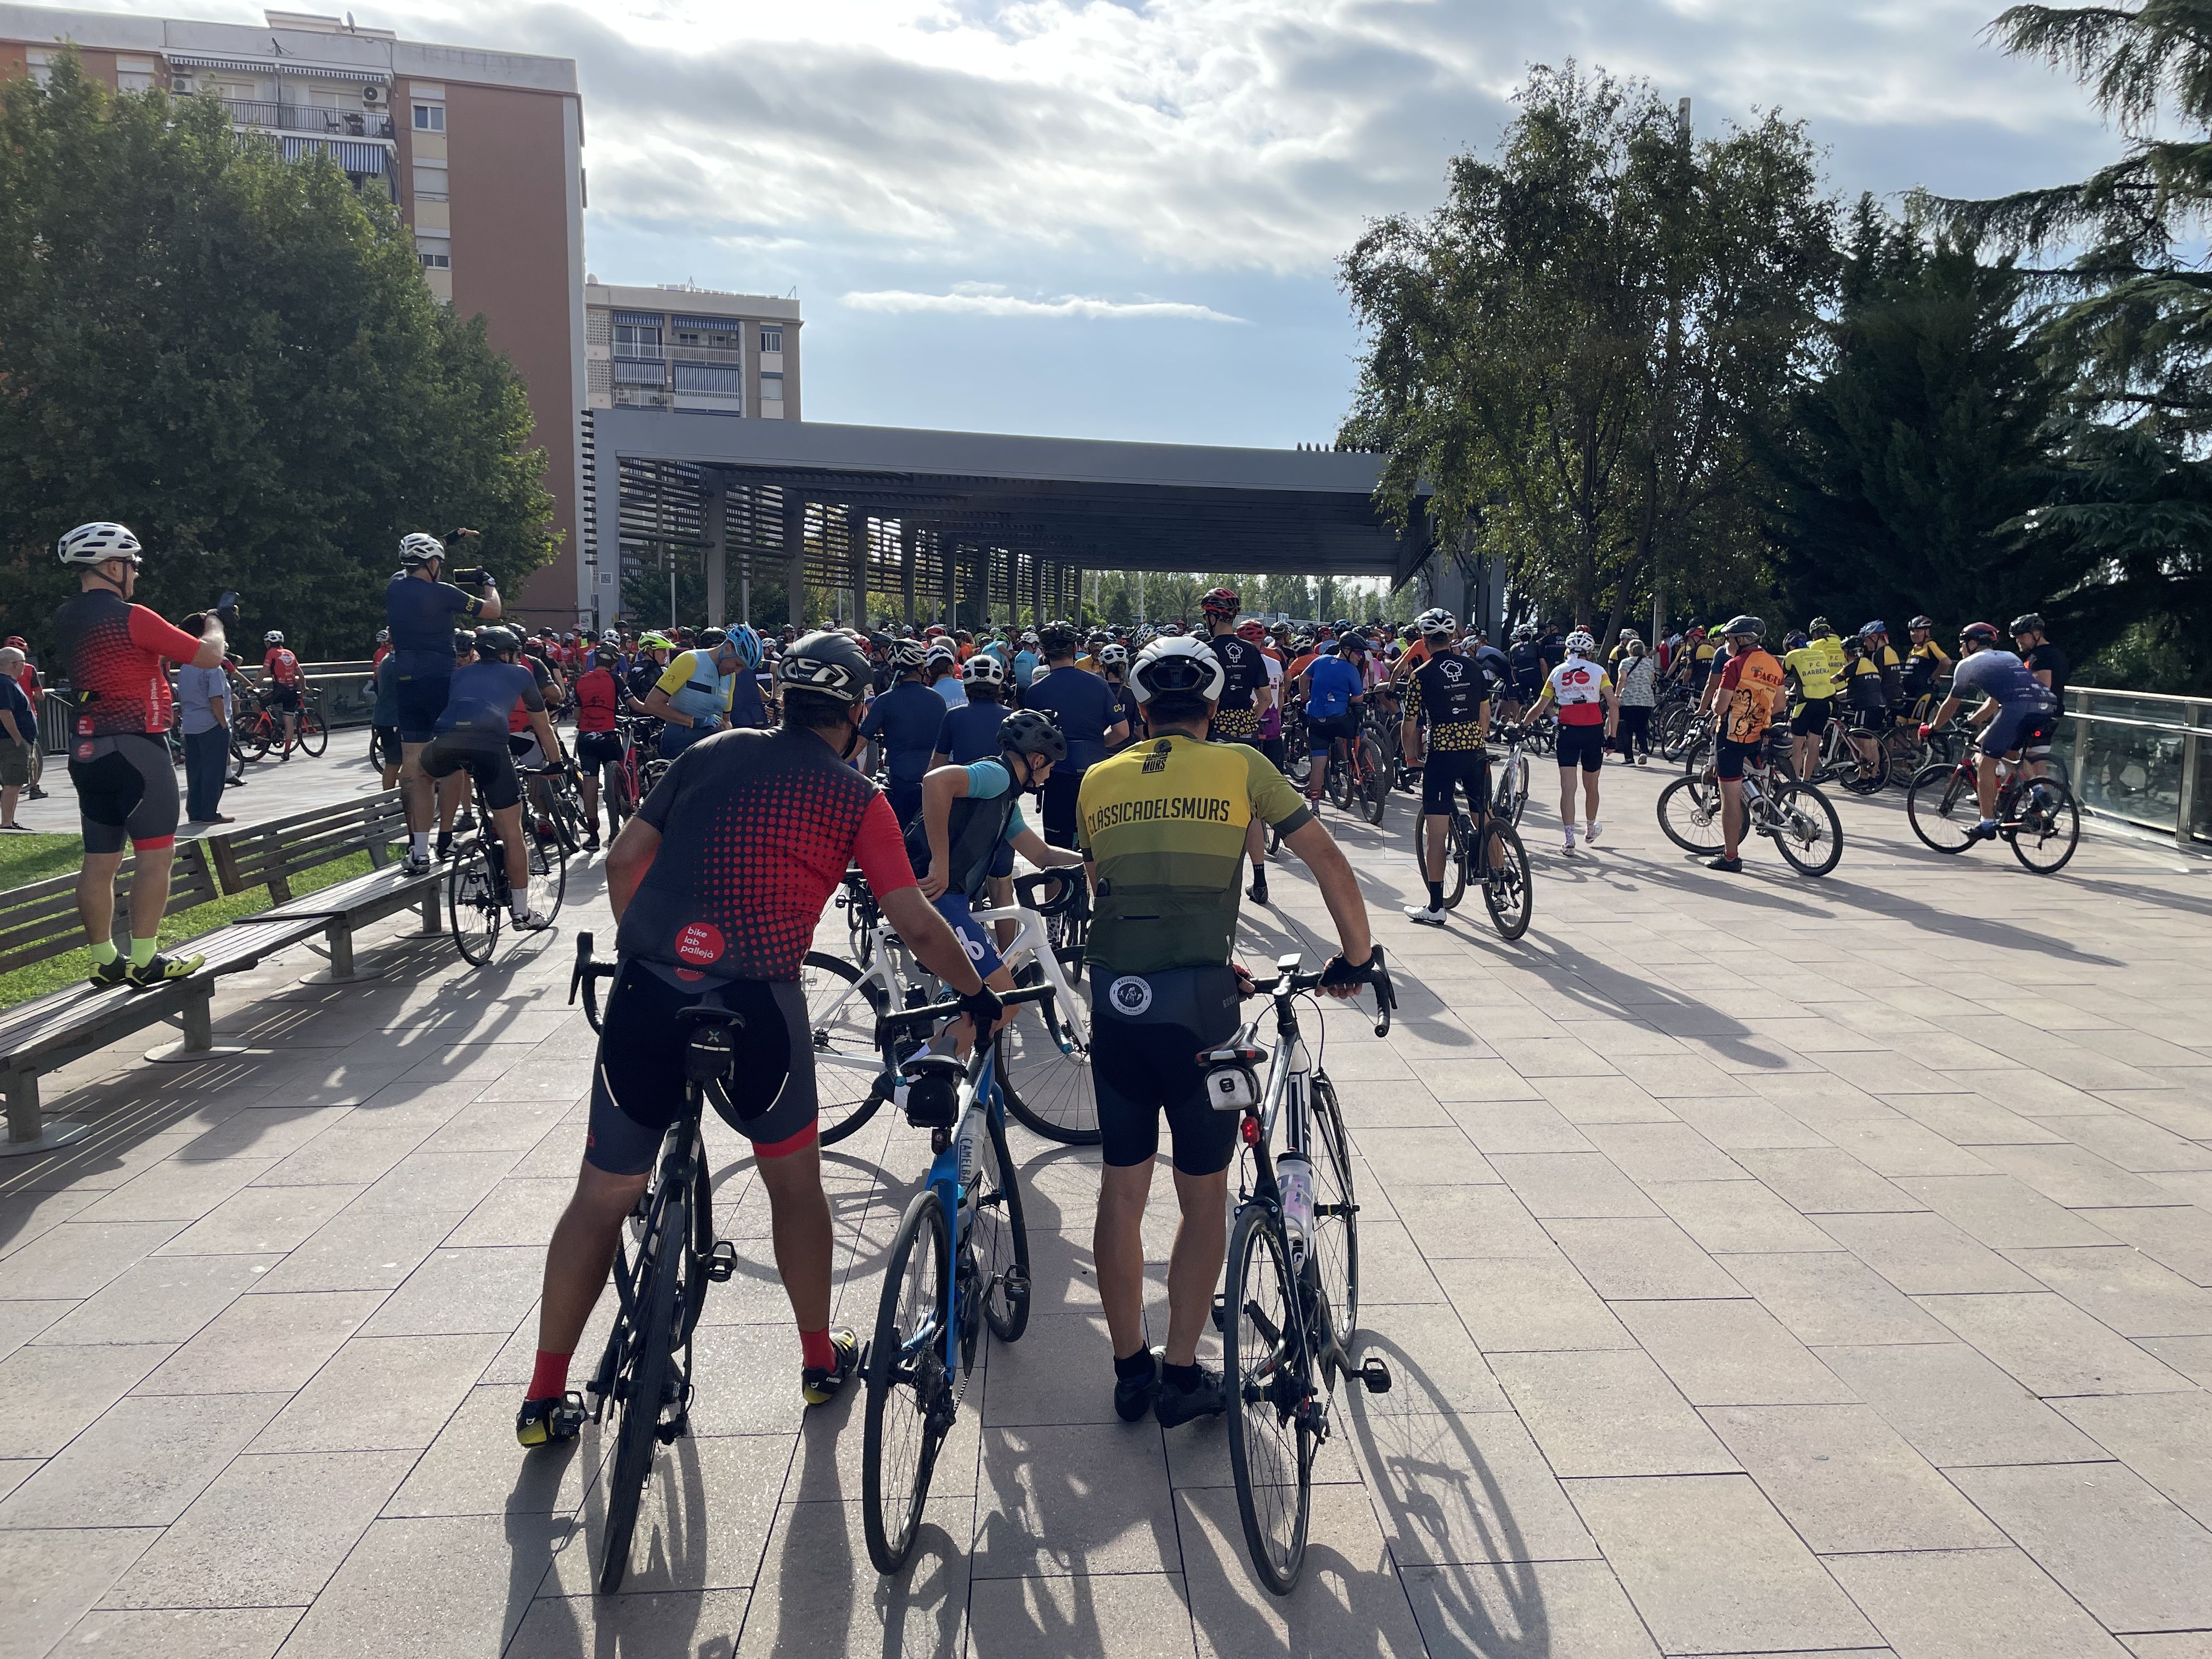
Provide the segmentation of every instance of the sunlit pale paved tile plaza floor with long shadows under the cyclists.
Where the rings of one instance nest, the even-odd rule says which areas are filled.
[[[2212,1655],[2212,865],[2093,838],[2039,880],[1845,801],[1834,878],[1732,880],[1659,836],[1659,781],[1608,770],[1571,863],[1531,812],[1520,947],[1398,916],[1402,801],[1329,818],[1405,1004],[1325,1051],[1398,1385],[1347,1402],[1292,1599],[1219,1425],[1113,1420],[1095,1157],[1020,1130],[1040,1314],[878,1579],[858,1409],[801,1422],[719,1124],[748,1261],[628,1593],[588,1593],[602,1447],[509,1431],[586,874],[487,971],[394,933],[332,991],[296,953],[219,998],[250,1055],[55,1079],[97,1135],[0,1166],[0,1659]],[[1274,891],[1252,960],[1316,938]],[[902,1126],[830,1152],[843,1321],[925,1164]]]

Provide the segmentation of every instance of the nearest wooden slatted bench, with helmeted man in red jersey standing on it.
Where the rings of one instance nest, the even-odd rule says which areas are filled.
[[[131,880],[137,860],[126,858],[117,878],[117,949],[128,949]],[[206,849],[177,843],[164,916],[221,898]],[[153,991],[117,984],[95,991],[75,982],[49,995],[0,1011],[0,1093],[7,1095],[7,1144],[0,1157],[46,1152],[86,1133],[84,1124],[46,1124],[38,1097],[44,1073],[66,1066],[119,1037],[153,1024],[173,1024],[181,1040],[153,1048],[148,1060],[197,1062],[234,1048],[215,1044],[215,980],[254,967],[319,931],[316,918],[254,916],[190,942],[206,967],[188,980],[170,980]],[[51,962],[84,945],[77,922],[77,878],[53,876],[0,894],[0,973]]]

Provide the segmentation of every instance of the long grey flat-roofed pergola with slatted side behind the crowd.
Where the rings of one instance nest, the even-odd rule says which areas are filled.
[[[599,615],[624,560],[699,555],[708,619],[781,573],[792,622],[807,584],[841,619],[885,602],[909,624],[1073,615],[1084,571],[1356,575],[1402,584],[1427,515],[1398,533],[1374,507],[1380,458],[1327,449],[1022,438],[978,431],[593,409],[582,551]]]

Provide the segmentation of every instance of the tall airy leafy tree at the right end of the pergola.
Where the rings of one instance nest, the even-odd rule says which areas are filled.
[[[1659,568],[1763,584],[1750,431],[1829,290],[1834,206],[1778,115],[1694,142],[1641,82],[1533,69],[1495,161],[1340,263],[1369,349],[1340,442],[1380,504],[1473,526],[1515,591],[1608,628]]]

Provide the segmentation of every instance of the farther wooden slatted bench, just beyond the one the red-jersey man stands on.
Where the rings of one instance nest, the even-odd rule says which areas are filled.
[[[407,876],[394,858],[394,847],[407,841],[407,814],[398,790],[385,790],[369,801],[347,801],[334,807],[294,812],[248,830],[208,838],[215,878],[226,894],[268,887],[276,909],[252,920],[312,920],[330,947],[330,973],[314,975],[319,984],[352,984],[374,980],[354,962],[354,931],[403,909],[422,909],[422,931],[436,933],[438,894],[445,872]],[[341,880],[305,898],[292,896],[292,883],[310,869],[369,854],[369,874]],[[246,922],[241,922],[246,925]]]

